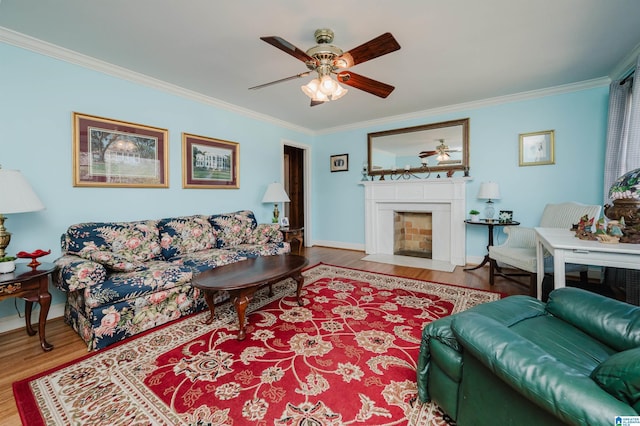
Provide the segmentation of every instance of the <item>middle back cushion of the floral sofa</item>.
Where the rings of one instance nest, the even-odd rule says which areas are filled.
[[[162,256],[171,259],[187,253],[209,250],[217,244],[218,232],[208,216],[194,215],[162,219],[158,223]]]

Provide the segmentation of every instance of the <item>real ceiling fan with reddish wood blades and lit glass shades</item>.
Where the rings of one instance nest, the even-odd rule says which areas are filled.
[[[333,31],[327,28],[316,30],[314,36],[318,44],[306,52],[281,37],[260,37],[261,40],[304,62],[309,71],[250,87],[249,90],[261,89],[272,84],[305,77],[315,71],[318,77],[302,86],[302,91],[311,98],[311,106],[344,96],[347,89],[344,89],[339,83],[364,90],[381,98],[389,96],[395,87],[356,74],[348,68],[400,49],[400,45],[391,33],[384,33],[348,52],[343,52],[342,49],[331,44],[333,35]],[[336,80],[331,78],[332,74],[336,76]]]

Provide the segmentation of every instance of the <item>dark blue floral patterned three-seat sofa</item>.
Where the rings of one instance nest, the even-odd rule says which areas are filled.
[[[199,272],[290,251],[278,225],[258,224],[248,210],[80,223],[61,245],[54,283],[67,293],[65,321],[89,350],[205,309],[191,286]],[[221,292],[216,301],[226,299]]]

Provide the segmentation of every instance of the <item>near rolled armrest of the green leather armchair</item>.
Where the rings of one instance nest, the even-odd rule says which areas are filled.
[[[568,424],[611,424],[638,413],[590,377],[563,364],[497,321],[476,313],[452,322],[463,352],[477,358],[518,393]]]

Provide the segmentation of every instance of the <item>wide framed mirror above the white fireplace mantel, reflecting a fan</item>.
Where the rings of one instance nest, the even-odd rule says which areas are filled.
[[[469,119],[368,134],[368,173],[469,169]]]

